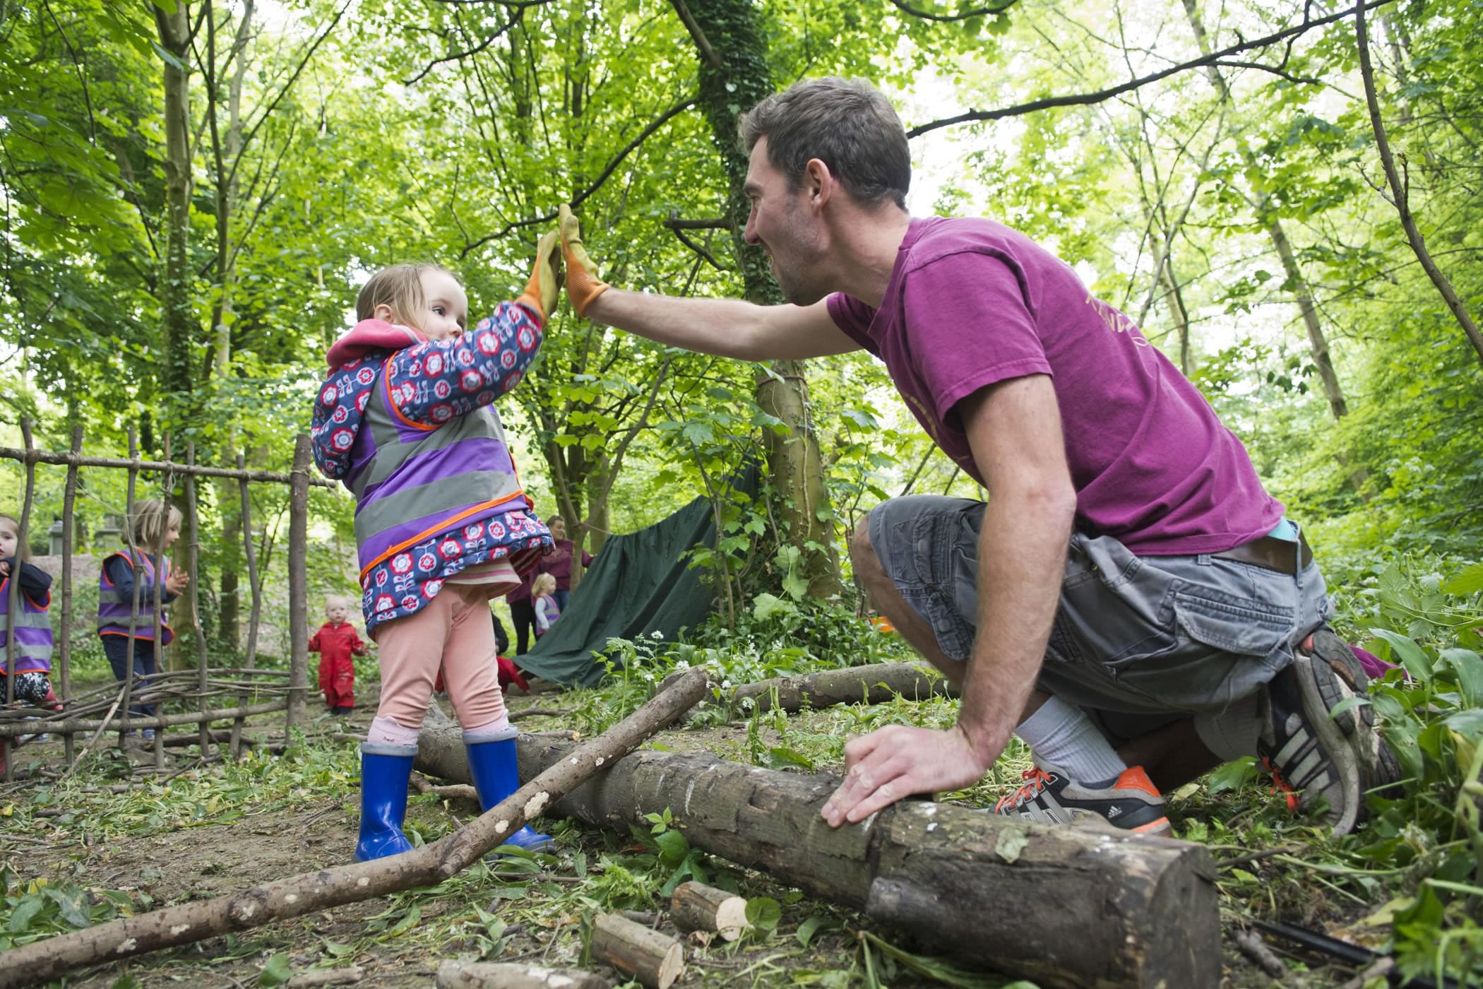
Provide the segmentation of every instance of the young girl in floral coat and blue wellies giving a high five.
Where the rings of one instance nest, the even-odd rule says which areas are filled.
[[[528,512],[492,402],[540,348],[558,248],[555,233],[543,237],[525,292],[469,332],[451,273],[386,268],[360,289],[354,329],[329,348],[310,439],[319,469],[356,495],[362,608],[381,666],[360,746],[360,861],[411,850],[406,784],[439,666],[480,805],[519,787],[488,601],[535,566],[550,534]],[[509,844],[547,848],[550,838],[522,827]]]

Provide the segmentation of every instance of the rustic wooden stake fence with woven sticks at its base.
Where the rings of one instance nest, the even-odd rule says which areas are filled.
[[[196,463],[196,445],[187,443],[185,463],[171,460],[171,440],[165,437],[165,460],[141,460],[133,429],[129,429],[129,457],[86,457],[83,455],[83,430],[74,427],[68,452],[52,452],[36,449],[31,436],[31,423],[21,421],[21,436],[25,446],[22,449],[0,446],[0,460],[19,461],[25,466],[25,498],[19,515],[19,553],[25,555],[28,546],[28,529],[31,526],[33,507],[36,501],[36,467],[37,464],[61,466],[67,469],[67,480],[62,494],[62,572],[61,572],[61,627],[53,635],[55,649],[52,654],[52,684],[62,710],[52,712],[40,707],[18,706],[15,701],[15,681],[4,678],[4,709],[0,709],[0,756],[9,756],[15,750],[15,738],[36,735],[42,732],[58,734],[65,746],[65,759],[71,767],[79,758],[76,735],[90,734],[92,738],[83,752],[92,749],[96,737],[105,731],[117,731],[120,744],[131,731],[153,728],[154,761],[157,767],[165,764],[165,730],[175,725],[194,725],[199,732],[200,752],[205,756],[214,740],[227,758],[237,758],[242,750],[242,727],[246,718],[261,713],[283,712],[285,732],[305,724],[305,706],[308,694],[308,615],[307,595],[308,578],[305,555],[308,543],[308,489],[310,486],[334,488],[329,480],[310,476],[310,446],[308,437],[300,434],[294,449],[294,467],[289,473],[268,470],[248,470],[243,457],[239,454],[236,467],[212,467]],[[168,672],[162,669],[160,645],[160,595],[162,581],[154,581],[153,603],[153,633],[156,673],[151,676],[135,676],[133,648],[135,627],[131,615],[131,644],[123,679],[117,687],[105,687],[73,694],[71,678],[71,645],[73,645],[73,555],[76,550],[74,510],[77,506],[79,470],[82,467],[101,467],[128,472],[128,495],[125,504],[125,544],[129,550],[138,550],[132,540],[129,520],[135,509],[135,491],[141,472],[157,472],[160,474],[162,497],[166,503],[174,494],[175,479],[182,483],[184,522],[187,537],[187,559],[191,583],[181,601],[181,606],[188,609],[182,615],[188,621],[196,639],[196,669]],[[248,644],[245,663],[237,667],[211,667],[211,657],[206,649],[206,638],[200,621],[200,595],[197,577],[200,569],[200,517],[196,504],[197,477],[230,477],[236,479],[239,498],[242,501],[242,534],[243,550],[248,568],[248,586],[252,593],[252,609],[248,627]],[[289,639],[292,641],[291,663],[288,673],[282,670],[257,669],[258,652],[258,623],[262,617],[262,578],[258,574],[257,550],[252,543],[252,507],[251,485],[271,483],[289,486]],[[145,552],[153,547],[144,547]],[[19,614],[19,574],[13,574],[7,587],[9,614]],[[133,586],[133,614],[139,611],[139,583]],[[15,627],[12,621],[10,627]],[[7,636],[4,649],[4,670],[15,669],[15,635]],[[285,682],[286,681],[286,682]],[[249,703],[254,695],[267,694],[273,700],[264,703]],[[212,707],[212,700],[227,698],[231,706]],[[194,710],[179,713],[144,715],[139,709],[148,706],[157,709],[165,703],[176,703],[194,707]],[[135,709],[131,712],[131,707]],[[90,716],[89,716],[90,715]],[[98,718],[102,715],[102,718]],[[230,735],[212,734],[211,722],[231,721]],[[15,759],[4,759],[4,780],[9,781],[13,773]]]

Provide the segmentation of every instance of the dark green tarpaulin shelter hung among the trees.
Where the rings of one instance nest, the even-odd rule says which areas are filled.
[[[756,489],[756,472],[744,472],[736,485]],[[681,555],[696,546],[713,546],[715,519],[707,498],[696,498],[663,522],[612,535],[592,562],[592,569],[567,602],[561,620],[515,658],[516,664],[558,684],[592,687],[604,675],[593,652],[608,639],[650,638],[655,632],[673,642],[682,627],[694,629],[710,614],[710,589],[701,571]]]

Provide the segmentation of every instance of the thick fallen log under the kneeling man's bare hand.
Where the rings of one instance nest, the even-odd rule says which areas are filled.
[[[424,730],[417,767],[467,780],[461,746],[457,728]],[[522,738],[521,768],[567,752]],[[1054,986],[1221,980],[1215,864],[1204,847],[928,801],[833,830],[819,811],[836,786],[828,774],[644,750],[553,813],[627,833],[644,814],[669,808],[693,847],[859,909],[974,968]]]

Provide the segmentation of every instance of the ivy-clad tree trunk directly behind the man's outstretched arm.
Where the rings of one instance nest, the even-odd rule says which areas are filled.
[[[727,172],[727,219],[746,298],[777,305],[785,300],[768,271],[767,254],[743,237],[750,203],[743,191],[747,160],[737,147],[737,117],[774,92],[756,9],[750,0],[698,0],[688,9],[685,0],[675,0],[675,6],[696,39],[700,105]],[[709,39],[725,39],[725,44],[710,44]],[[829,598],[841,593],[844,584],[819,436],[808,412],[808,387],[802,365],[795,360],[774,362],[771,369],[773,375],[756,380],[756,403],[787,426],[786,436],[764,433],[768,473],[777,492],[776,515],[786,528],[779,535],[802,553],[808,593]]]

